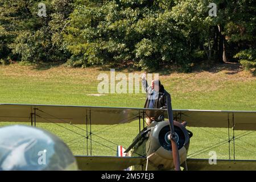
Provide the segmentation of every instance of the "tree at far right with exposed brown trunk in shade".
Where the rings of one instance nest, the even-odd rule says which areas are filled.
[[[208,60],[231,60],[234,50],[255,45],[255,4],[253,1],[214,1],[217,16],[209,17],[211,1],[180,1],[173,7],[173,17],[187,39],[199,38]],[[239,42],[239,43],[238,43]],[[238,43],[238,44],[236,44]],[[195,40],[189,44],[196,48]],[[207,48],[206,48],[207,47]],[[214,53],[214,55],[212,54]],[[227,58],[228,57],[228,58]]]

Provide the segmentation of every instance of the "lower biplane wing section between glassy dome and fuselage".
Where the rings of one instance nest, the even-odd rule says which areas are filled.
[[[146,162],[143,157],[75,156],[82,171],[120,171]]]

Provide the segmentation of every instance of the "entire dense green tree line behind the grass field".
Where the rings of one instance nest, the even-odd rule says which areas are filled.
[[[255,68],[255,9],[253,0],[0,0],[0,63]]]

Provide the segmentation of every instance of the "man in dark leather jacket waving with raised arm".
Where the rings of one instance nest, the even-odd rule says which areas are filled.
[[[146,80],[146,73],[143,73],[142,85],[147,94],[144,108],[167,109],[166,90],[164,90],[164,86],[161,84],[160,80],[152,80],[151,85],[148,86],[147,80]],[[152,121],[163,121],[163,119],[164,119],[163,115],[159,115],[159,116],[147,115],[146,123],[147,125],[150,125]]]

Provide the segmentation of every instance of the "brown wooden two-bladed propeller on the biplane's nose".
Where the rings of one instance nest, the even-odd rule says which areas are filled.
[[[172,104],[171,104],[171,95],[166,92],[167,94],[167,112],[168,118],[170,123],[171,134],[168,135],[168,140],[171,141],[172,144],[172,158],[174,159],[174,167],[176,171],[180,171],[180,156],[179,156],[179,149],[177,147],[177,141],[175,140],[176,133],[174,131],[174,117],[172,114]]]

